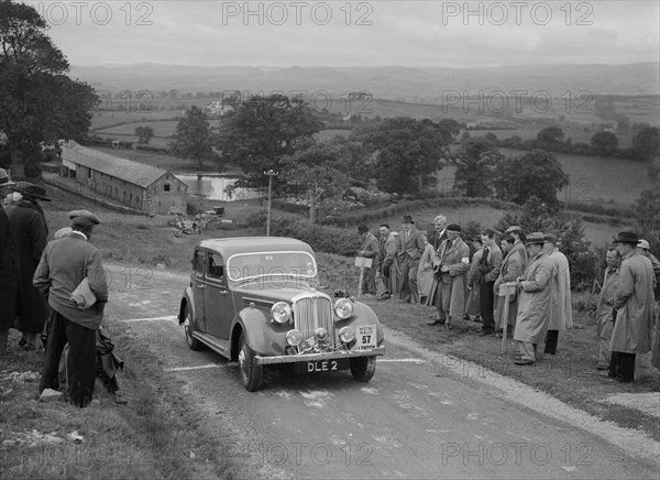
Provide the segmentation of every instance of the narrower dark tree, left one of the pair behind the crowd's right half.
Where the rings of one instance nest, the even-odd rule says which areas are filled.
[[[488,197],[493,192],[493,168],[502,160],[497,149],[484,138],[466,139],[450,163],[457,166],[454,187],[468,197]]]

